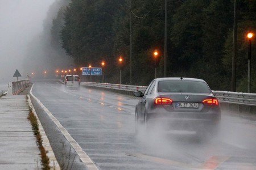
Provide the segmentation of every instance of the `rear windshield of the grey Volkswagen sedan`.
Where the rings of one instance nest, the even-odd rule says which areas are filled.
[[[166,80],[158,82],[158,92],[183,92],[210,94],[211,91],[205,82]]]

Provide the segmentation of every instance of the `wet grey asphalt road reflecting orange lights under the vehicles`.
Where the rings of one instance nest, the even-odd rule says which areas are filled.
[[[67,90],[57,82],[35,82],[32,94],[71,134],[98,169],[256,169],[254,120],[222,113],[220,133],[204,142],[190,134],[159,136],[156,133],[148,137],[135,134],[134,112],[138,98],[93,88]],[[69,152],[69,147],[61,147],[68,146],[69,142],[47,115],[39,107],[37,112],[43,114],[39,118],[48,129],[46,133],[57,159],[63,161],[63,151],[66,156],[75,155],[73,149]],[[79,158],[74,157],[68,159],[72,162],[70,169],[86,169]]]

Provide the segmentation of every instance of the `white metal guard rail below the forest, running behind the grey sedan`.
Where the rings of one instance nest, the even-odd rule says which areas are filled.
[[[147,86],[131,86],[125,84],[109,84],[109,83],[93,83],[93,82],[81,82],[81,86],[93,86],[110,88],[115,90],[124,91],[142,91],[144,92]],[[220,103],[233,103],[241,105],[254,105],[256,106],[256,94],[248,94],[241,92],[229,92],[229,91],[212,91],[217,97]]]

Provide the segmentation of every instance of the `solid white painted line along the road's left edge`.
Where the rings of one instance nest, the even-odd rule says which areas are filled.
[[[73,139],[73,137],[71,137],[68,131],[60,124],[60,122],[52,115],[52,113],[48,111],[48,109],[43,105],[43,103],[41,103],[41,101],[32,94],[32,87],[30,90],[30,94],[43,108],[44,112],[48,114],[48,116],[55,123],[55,125],[61,131],[61,133],[63,133],[65,138],[68,140],[68,142],[76,151],[77,155],[79,155],[81,162],[84,163],[89,170],[99,170],[96,164],[92,161],[92,159],[90,159],[90,157],[86,154],[86,152],[82,150],[81,146],[75,141],[75,139]]]

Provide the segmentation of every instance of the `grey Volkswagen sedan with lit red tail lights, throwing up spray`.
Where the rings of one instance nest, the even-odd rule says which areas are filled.
[[[199,137],[212,134],[221,118],[218,100],[208,84],[193,78],[157,78],[135,108],[136,128],[142,125],[150,132],[155,126],[163,131],[187,131]]]

